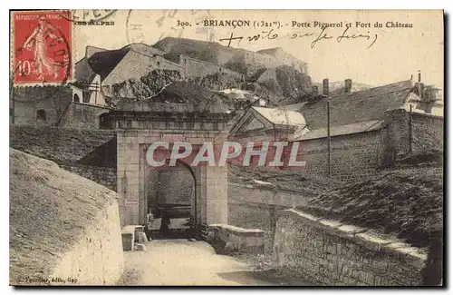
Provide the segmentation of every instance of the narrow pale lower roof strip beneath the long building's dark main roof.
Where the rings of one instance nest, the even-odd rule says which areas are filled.
[[[383,123],[384,121],[382,120],[371,120],[367,122],[352,123],[342,126],[333,126],[331,128],[331,136],[375,131],[381,129],[383,127]],[[311,130],[301,136],[294,137],[294,141],[306,141],[323,137],[327,137],[327,128]]]

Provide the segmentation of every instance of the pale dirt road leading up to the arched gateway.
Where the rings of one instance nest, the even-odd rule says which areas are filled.
[[[156,240],[147,251],[125,251],[125,271],[120,285],[279,285],[256,278],[246,262],[217,255],[204,241]]]

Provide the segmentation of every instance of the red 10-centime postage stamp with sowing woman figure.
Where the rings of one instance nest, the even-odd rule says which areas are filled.
[[[14,84],[63,84],[72,78],[70,14],[12,13]]]

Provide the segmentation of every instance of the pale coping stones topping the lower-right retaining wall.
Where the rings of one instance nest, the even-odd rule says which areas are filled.
[[[318,218],[312,214],[294,209],[277,211],[277,214],[280,216],[295,216],[296,218],[317,222],[325,230],[335,235],[349,239],[371,251],[387,251],[399,255],[404,257],[406,262],[418,268],[422,268],[428,258],[427,253],[420,248],[412,247],[410,244],[394,238],[380,237],[371,230],[345,224],[341,221]]]

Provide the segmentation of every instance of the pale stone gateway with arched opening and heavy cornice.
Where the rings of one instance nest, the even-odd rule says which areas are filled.
[[[117,191],[121,226],[144,224],[147,185],[152,167],[146,160],[151,143],[223,144],[231,113],[184,103],[135,103],[110,113],[117,129]],[[227,223],[227,166],[192,166],[195,221]]]

